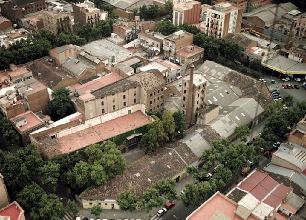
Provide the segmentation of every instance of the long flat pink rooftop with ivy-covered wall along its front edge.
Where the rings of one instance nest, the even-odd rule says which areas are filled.
[[[146,115],[137,111],[76,133],[68,134],[54,141],[59,145],[60,152],[68,153],[134,130],[150,122],[151,120]]]

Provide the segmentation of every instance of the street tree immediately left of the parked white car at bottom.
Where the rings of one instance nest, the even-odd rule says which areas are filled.
[[[162,206],[164,199],[160,196],[157,189],[149,188],[143,194],[144,207],[146,212],[150,212],[152,208]]]

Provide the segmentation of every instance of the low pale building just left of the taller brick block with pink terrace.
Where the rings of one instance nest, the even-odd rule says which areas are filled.
[[[155,37],[153,31],[148,34],[139,33],[138,38],[140,41],[140,46],[144,51],[146,51],[149,54],[149,57],[161,54],[163,52],[162,49],[163,39]]]

